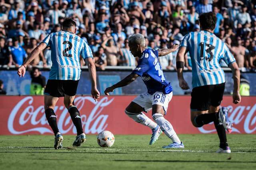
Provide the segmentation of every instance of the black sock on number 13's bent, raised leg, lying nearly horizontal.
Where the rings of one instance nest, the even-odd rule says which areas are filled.
[[[202,127],[203,125],[207,125],[212,121],[218,121],[218,113],[201,114],[201,115],[198,115],[194,121],[199,127]]]

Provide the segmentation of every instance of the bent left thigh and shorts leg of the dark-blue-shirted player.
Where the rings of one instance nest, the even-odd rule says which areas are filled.
[[[139,113],[142,111],[149,111],[152,109],[151,94],[148,92],[138,95],[132,102],[126,107],[126,110],[131,113]]]

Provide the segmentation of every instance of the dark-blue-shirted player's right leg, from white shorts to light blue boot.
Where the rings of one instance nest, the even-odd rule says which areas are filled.
[[[170,94],[163,94],[162,92],[154,93],[152,98],[152,117],[164,134],[172,140],[172,143],[164,148],[184,148],[172,124],[164,118],[171,99],[172,92]]]

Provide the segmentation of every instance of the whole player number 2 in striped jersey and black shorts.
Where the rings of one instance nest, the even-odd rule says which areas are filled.
[[[76,34],[76,22],[67,18],[62,23],[62,31],[48,35],[28,56],[18,69],[18,75],[24,76],[26,67],[41,51],[50,48],[52,68],[44,90],[44,109],[47,121],[55,135],[54,148],[62,148],[63,137],[57,126],[54,107],[60,97],[76,127],[77,136],[73,146],[79,147],[85,140],[80,113],[74,105],[74,99],[80,79],[80,55],[86,62],[92,82],[92,97],[97,100],[100,93],[96,87],[96,68],[90,47]]]

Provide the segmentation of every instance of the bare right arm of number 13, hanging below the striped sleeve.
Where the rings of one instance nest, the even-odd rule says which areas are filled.
[[[241,102],[240,90],[240,70],[236,62],[229,64],[232,70],[234,80],[233,103],[238,104]]]

